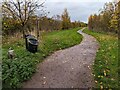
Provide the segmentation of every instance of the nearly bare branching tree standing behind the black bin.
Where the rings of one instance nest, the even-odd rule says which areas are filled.
[[[24,37],[24,27],[28,23],[30,16],[34,14],[37,8],[43,7],[44,3],[38,4],[38,0],[3,0],[3,15],[18,20],[23,28]]]

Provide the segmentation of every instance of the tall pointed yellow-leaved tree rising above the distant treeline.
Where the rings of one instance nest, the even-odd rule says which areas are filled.
[[[70,16],[68,14],[67,9],[65,8],[62,14],[62,29],[68,29],[70,27],[71,27]]]

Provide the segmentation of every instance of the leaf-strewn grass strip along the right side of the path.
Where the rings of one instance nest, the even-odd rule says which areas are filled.
[[[93,66],[97,88],[117,88],[118,71],[120,70],[118,67],[117,35],[97,33],[88,29],[84,32],[94,36],[100,43]]]

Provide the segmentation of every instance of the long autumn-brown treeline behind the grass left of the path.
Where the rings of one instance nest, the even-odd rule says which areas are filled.
[[[22,32],[23,29],[25,29],[25,32],[27,33],[32,32],[33,30],[52,31],[87,26],[86,23],[80,21],[71,22],[67,9],[64,10],[62,15],[54,15],[51,18],[47,16],[40,17],[32,15],[29,17],[29,21],[25,24],[24,28],[21,27],[21,23],[17,19],[15,20],[4,15],[2,25],[3,35],[13,35],[17,32]]]

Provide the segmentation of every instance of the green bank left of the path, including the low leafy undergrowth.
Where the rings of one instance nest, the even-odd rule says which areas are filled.
[[[21,87],[21,83],[31,78],[36,70],[36,64],[56,50],[79,44],[82,36],[77,33],[80,28],[41,33],[38,52],[33,54],[25,49],[23,39],[8,38],[3,40],[2,49],[2,82],[3,87]],[[12,47],[15,58],[8,59],[7,51]]]

